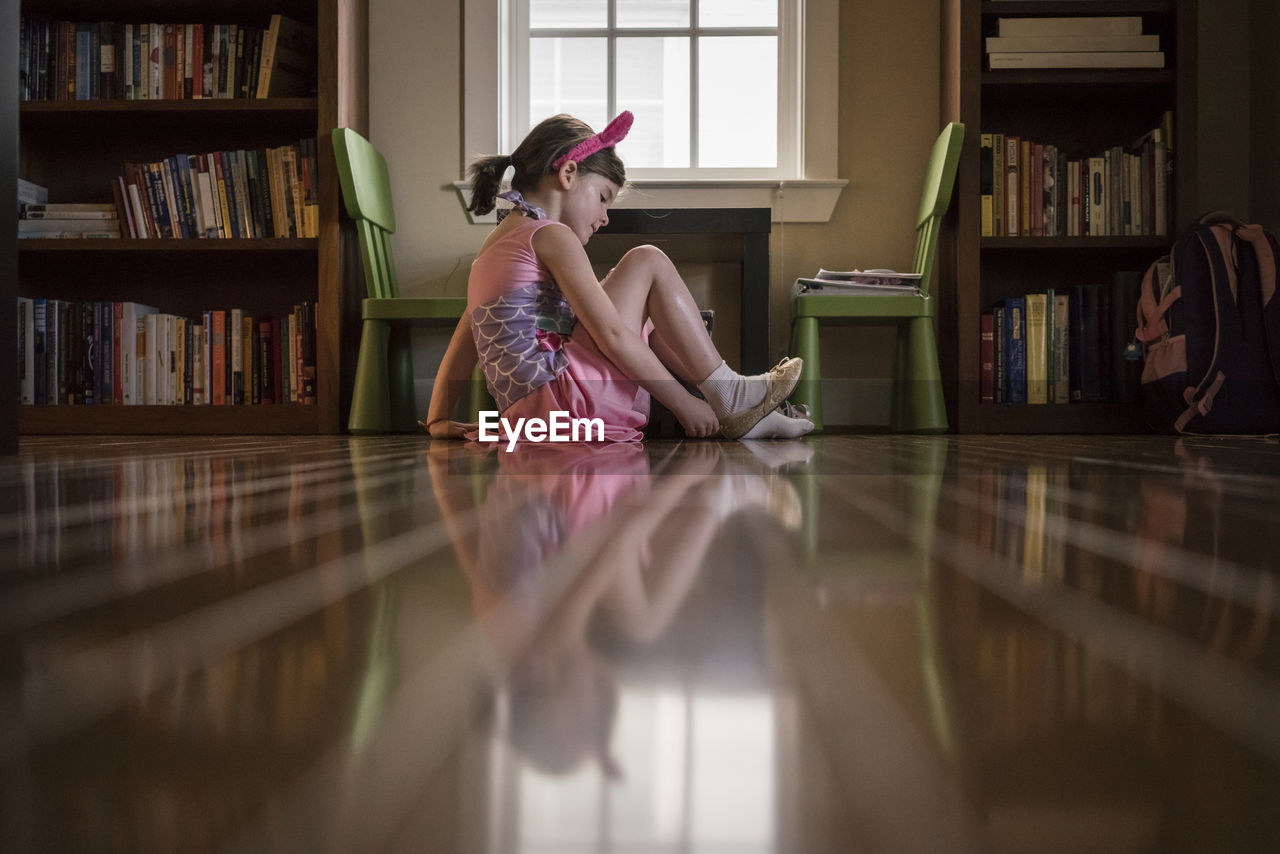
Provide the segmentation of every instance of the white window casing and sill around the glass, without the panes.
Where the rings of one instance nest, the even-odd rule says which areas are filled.
[[[618,206],[769,207],[774,222],[827,222],[849,183],[836,173],[838,6],[838,0],[780,3],[780,122],[788,132],[780,128],[776,169],[628,169],[630,189]],[[527,38],[516,44],[513,37],[521,26],[513,14],[525,15],[527,32],[522,0],[465,4],[463,169],[477,155],[509,152],[518,143],[511,142],[512,129],[527,127],[527,115],[518,115],[507,100],[520,85],[517,69],[527,67],[527,59],[513,55],[527,50]],[[468,184],[460,181],[454,187],[465,206]]]

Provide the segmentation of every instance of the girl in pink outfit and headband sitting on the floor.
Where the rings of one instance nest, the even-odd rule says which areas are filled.
[[[595,278],[584,247],[609,222],[609,205],[626,184],[613,146],[631,120],[623,111],[593,133],[579,119],[552,117],[513,154],[471,164],[470,210],[488,214],[502,197],[515,215],[498,224],[471,265],[467,311],[428,410],[433,437],[468,434],[471,425],[449,414],[477,359],[512,424],[566,412],[603,421],[605,439],[637,440],[652,396],[694,438],[795,438],[813,429],[780,408],[800,378],[800,360],[783,359],[754,376],[730,369],[659,248],[632,248],[603,282]],[[508,166],[512,189],[499,193]]]

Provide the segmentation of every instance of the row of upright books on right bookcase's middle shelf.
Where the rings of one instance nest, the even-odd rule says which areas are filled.
[[[1169,234],[1172,113],[1128,149],[1071,159],[1053,143],[979,134],[983,237]]]

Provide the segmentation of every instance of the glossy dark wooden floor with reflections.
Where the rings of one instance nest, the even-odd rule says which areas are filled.
[[[28,438],[0,850],[1262,851],[1280,444]]]

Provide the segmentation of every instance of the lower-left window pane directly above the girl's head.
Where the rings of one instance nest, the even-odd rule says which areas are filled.
[[[529,40],[529,124],[568,113],[596,131],[608,117],[604,38]]]

